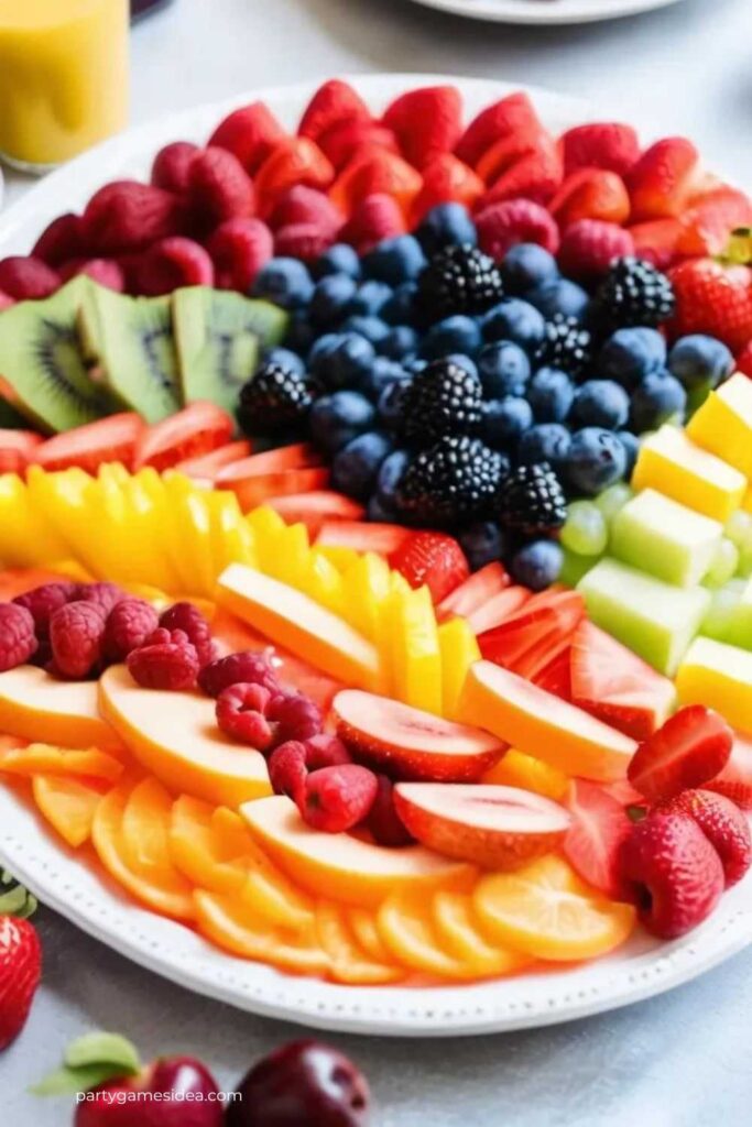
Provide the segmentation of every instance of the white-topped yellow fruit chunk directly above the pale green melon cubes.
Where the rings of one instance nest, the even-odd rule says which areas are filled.
[[[746,490],[743,473],[670,424],[643,442],[631,483],[635,489],[657,489],[724,524]]]

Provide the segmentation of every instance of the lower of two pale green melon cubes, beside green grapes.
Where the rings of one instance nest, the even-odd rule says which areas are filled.
[[[710,604],[706,587],[684,591],[610,556],[587,573],[577,589],[596,625],[670,677]]]

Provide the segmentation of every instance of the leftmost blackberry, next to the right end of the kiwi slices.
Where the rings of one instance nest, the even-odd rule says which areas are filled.
[[[312,384],[304,375],[266,361],[240,390],[238,423],[249,435],[300,429],[312,402]]]

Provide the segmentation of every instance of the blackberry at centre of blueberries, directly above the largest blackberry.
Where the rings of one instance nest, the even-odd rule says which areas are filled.
[[[401,429],[417,446],[430,446],[445,434],[470,434],[483,416],[483,384],[453,360],[435,360],[409,384]]]

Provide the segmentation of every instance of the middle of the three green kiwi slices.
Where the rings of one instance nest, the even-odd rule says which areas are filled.
[[[118,405],[158,423],[182,406],[169,298],[94,285],[79,317],[81,348]]]

